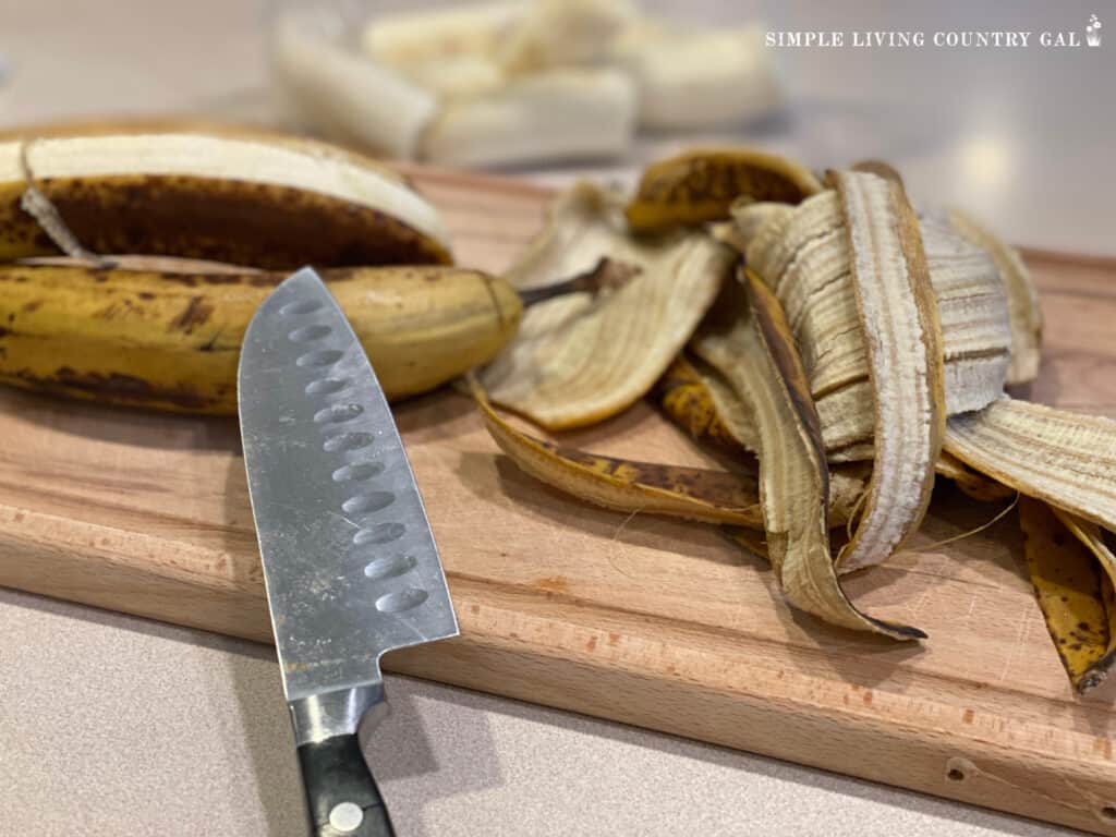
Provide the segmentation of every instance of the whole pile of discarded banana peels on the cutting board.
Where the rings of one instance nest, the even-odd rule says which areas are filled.
[[[730,525],[791,606],[924,639],[859,609],[846,573],[917,531],[939,477],[1018,503],[1026,560],[1075,689],[1116,658],[1116,422],[1009,397],[1038,374],[1038,297],[1019,254],[965,214],[917,212],[882,163],[816,176],[745,150],[652,165],[634,195],[581,183],[506,278],[606,258],[632,278],[526,312],[473,379],[527,473],[631,513]],[[732,471],[631,462],[519,430],[600,422],[650,396]]]

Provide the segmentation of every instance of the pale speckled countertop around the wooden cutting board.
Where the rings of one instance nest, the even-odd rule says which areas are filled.
[[[1083,30],[1106,17],[1081,3],[744,6],[782,29]],[[106,112],[269,118],[262,17],[250,0],[0,0],[0,128]],[[884,156],[917,198],[961,203],[1018,243],[1112,256],[1114,56],[1116,40],[781,50],[788,115],[735,138],[818,166]],[[689,142],[526,174],[631,176]],[[304,834],[270,648],[10,590],[0,636],[0,831]],[[433,683],[388,676],[387,690],[393,714],[364,743],[401,835],[1065,833]]]

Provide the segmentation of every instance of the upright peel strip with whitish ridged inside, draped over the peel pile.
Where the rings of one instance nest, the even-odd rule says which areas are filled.
[[[945,435],[942,328],[918,221],[898,175],[873,167],[886,176],[830,174],[875,396],[873,475],[853,539],[837,557],[841,570],[886,560],[917,531]]]

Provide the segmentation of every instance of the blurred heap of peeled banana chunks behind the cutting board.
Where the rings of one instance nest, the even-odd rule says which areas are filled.
[[[631,148],[637,123],[718,127],[780,103],[757,29],[681,28],[633,0],[381,15],[359,33],[359,52],[344,44],[345,22],[305,10],[279,15],[277,83],[309,124],[405,158],[491,165],[613,156]],[[559,84],[571,74],[610,80]]]

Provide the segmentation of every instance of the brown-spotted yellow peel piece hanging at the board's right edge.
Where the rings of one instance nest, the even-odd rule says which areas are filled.
[[[1085,694],[1104,681],[1116,661],[1113,570],[1089,548],[1099,530],[1074,527],[1072,518],[1067,526],[1051,507],[1026,497],[1019,501],[1019,522],[1027,571],[1047,631],[1074,689]]]

